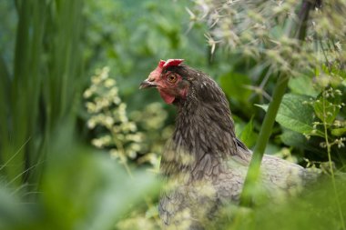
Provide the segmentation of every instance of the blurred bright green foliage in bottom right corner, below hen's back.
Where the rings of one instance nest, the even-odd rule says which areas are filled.
[[[337,180],[338,194],[346,195],[344,175]],[[307,188],[302,195],[288,200],[255,208],[229,206],[222,212],[223,218],[208,229],[341,229],[340,213],[346,214],[346,200],[338,210],[331,181],[320,180]],[[234,217],[232,217],[234,216]]]

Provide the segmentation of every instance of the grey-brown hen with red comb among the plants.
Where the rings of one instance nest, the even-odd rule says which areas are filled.
[[[164,228],[204,229],[203,222],[219,206],[239,201],[251,151],[235,135],[221,88],[182,62],[161,60],[140,88],[157,88],[166,103],[178,108],[176,129],[160,165],[168,182],[158,207]],[[271,155],[264,155],[261,163],[261,188],[270,198],[296,193],[314,177]]]

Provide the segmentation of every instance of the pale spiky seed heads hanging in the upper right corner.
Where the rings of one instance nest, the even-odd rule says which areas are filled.
[[[188,14],[191,20],[209,25],[206,37],[211,52],[216,45],[222,45],[232,53],[261,60],[273,72],[293,76],[313,71],[321,64],[345,62],[345,1],[322,5],[320,1],[301,4],[292,0],[194,2],[195,8]],[[304,19],[307,11],[309,17]]]

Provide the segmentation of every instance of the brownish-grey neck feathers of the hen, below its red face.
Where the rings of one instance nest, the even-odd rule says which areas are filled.
[[[179,101],[176,130],[162,156],[164,174],[219,174],[230,155],[237,155],[237,139],[229,103],[208,76],[191,80],[188,97]]]

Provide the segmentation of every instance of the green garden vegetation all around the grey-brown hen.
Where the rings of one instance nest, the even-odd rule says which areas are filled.
[[[265,152],[326,175],[287,205],[229,207],[210,229],[346,229],[345,12],[343,1],[1,1],[0,229],[159,229],[175,110],[137,88],[172,57],[219,82],[250,148],[290,79]]]

